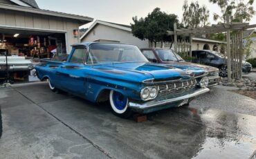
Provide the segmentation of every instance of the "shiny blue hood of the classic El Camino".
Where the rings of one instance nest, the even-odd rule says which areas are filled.
[[[172,80],[188,79],[190,73],[179,68],[145,62],[116,63],[93,66],[94,73],[118,79],[142,82],[145,79]]]

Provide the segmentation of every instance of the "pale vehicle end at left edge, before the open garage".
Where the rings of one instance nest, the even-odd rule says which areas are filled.
[[[0,49],[0,77],[6,77],[6,50]],[[26,77],[30,70],[33,69],[33,64],[30,59],[19,56],[7,56],[8,72],[12,76],[16,73],[17,77]]]

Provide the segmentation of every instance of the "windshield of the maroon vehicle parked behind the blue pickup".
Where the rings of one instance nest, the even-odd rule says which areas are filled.
[[[156,53],[163,61],[183,61],[178,54],[170,49],[156,49]]]

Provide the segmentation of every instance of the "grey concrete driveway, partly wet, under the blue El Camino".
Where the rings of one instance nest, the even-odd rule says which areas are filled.
[[[136,123],[46,83],[0,89],[0,158],[250,158],[256,100],[219,86]]]

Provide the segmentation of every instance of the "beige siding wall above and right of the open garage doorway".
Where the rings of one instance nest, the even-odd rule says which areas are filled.
[[[47,15],[42,16],[13,10],[0,10],[0,29],[65,33],[67,53],[71,51],[72,44],[80,42],[79,37],[73,37],[73,30],[78,30],[78,26],[78,22],[71,19]]]

